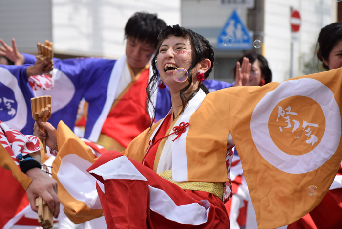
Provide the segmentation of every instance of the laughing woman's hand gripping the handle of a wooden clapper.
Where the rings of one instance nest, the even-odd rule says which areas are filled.
[[[39,129],[38,123],[46,130],[46,133]],[[46,139],[46,145],[50,149],[52,149],[57,144],[57,136],[56,136],[57,130],[55,129],[55,127],[51,125],[51,123],[43,122],[42,119],[39,119],[38,123],[37,122],[34,123],[33,135],[37,136],[41,141],[43,139]],[[58,147],[56,147],[55,150],[58,151]]]

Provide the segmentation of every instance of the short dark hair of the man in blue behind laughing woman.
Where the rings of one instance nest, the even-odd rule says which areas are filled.
[[[156,14],[135,13],[126,23],[125,38],[132,37],[157,46],[158,34],[165,27],[166,23]]]

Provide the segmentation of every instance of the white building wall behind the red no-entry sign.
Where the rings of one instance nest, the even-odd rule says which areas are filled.
[[[334,0],[265,0],[264,55],[272,70],[273,81],[277,82],[290,78],[290,7],[298,10],[301,16],[298,41],[294,42],[294,77],[302,75],[299,56],[313,56],[312,47],[321,28],[337,21]]]

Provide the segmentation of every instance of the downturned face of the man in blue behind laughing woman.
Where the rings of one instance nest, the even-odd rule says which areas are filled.
[[[128,37],[126,56],[128,64],[133,69],[142,69],[149,63],[156,47],[150,43],[142,42],[137,38]]]

